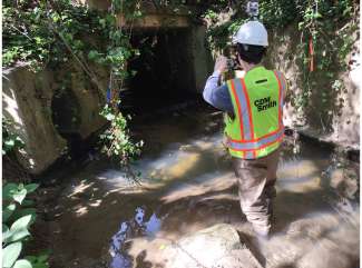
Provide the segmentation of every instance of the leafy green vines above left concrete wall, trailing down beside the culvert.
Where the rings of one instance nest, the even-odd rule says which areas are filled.
[[[121,165],[139,152],[141,143],[130,140],[127,117],[118,109],[118,91],[131,73],[126,63],[138,54],[138,50],[129,43],[131,29],[120,29],[117,16],[125,14],[128,20],[138,18],[141,16],[138,3],[114,0],[111,12],[75,6],[70,0],[6,0],[2,3],[4,67],[22,62],[31,71],[46,68],[57,71],[71,62],[88,76],[102,96],[107,89],[100,85],[92,66],[109,71],[111,97],[99,112],[110,121],[110,128],[101,140],[106,141],[104,151],[119,158]],[[3,129],[4,133],[10,131],[7,126]],[[6,149],[19,141],[9,137],[11,140],[6,140]]]

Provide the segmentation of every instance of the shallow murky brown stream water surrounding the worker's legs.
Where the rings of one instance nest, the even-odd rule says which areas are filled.
[[[109,161],[92,161],[71,175],[71,185],[49,211],[51,267],[163,267],[165,248],[219,222],[244,234],[265,267],[358,264],[353,169],[331,166],[327,148],[302,143],[294,155],[285,145],[277,171],[275,236],[258,245],[239,209],[219,118],[192,110],[139,122],[135,131],[146,148],[135,169],[141,172],[141,187]],[[330,250],[337,262],[326,255]],[[326,266],[330,261],[334,266]]]

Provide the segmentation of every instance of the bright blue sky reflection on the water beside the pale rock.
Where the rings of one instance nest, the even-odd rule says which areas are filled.
[[[155,212],[146,220],[145,209],[137,207],[135,216],[128,221],[120,224],[119,230],[111,237],[109,254],[111,268],[133,267],[133,260],[127,254],[126,247],[129,239],[139,236],[154,237],[160,230],[162,220]]]

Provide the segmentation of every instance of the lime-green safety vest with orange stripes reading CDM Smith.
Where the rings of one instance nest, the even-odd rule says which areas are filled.
[[[233,157],[255,159],[276,150],[284,136],[282,73],[257,67],[226,81],[234,118],[225,117],[226,146]]]

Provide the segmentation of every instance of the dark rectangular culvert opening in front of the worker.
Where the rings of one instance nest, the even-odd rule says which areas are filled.
[[[131,43],[140,56],[129,62],[135,71],[121,91],[124,108],[136,113],[194,99],[196,93],[189,29],[138,31]]]

